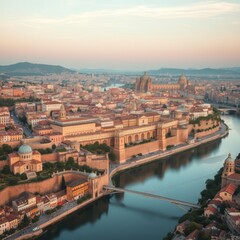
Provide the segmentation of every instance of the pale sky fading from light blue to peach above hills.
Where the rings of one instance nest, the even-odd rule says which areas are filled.
[[[240,0],[0,0],[0,65],[240,66]]]

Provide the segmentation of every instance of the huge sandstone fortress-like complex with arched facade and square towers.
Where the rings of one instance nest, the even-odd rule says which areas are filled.
[[[188,119],[161,119],[158,113],[143,113],[121,116],[111,127],[104,128],[98,118],[75,118],[66,116],[64,107],[59,118],[53,120],[54,132],[64,140],[83,146],[96,141],[106,143],[124,162],[136,154],[165,150],[169,146],[185,143],[188,139]]]

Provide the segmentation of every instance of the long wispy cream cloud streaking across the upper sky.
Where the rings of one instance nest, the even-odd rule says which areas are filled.
[[[108,9],[68,15],[63,18],[35,18],[25,24],[81,24],[99,18],[139,17],[156,19],[211,18],[240,12],[240,4],[208,1],[179,7],[136,6],[124,9]]]

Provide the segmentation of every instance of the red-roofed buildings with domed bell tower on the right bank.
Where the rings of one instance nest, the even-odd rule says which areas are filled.
[[[234,236],[240,235],[240,171],[239,158],[232,159],[231,154],[224,161],[223,172],[221,176],[221,189],[209,199],[204,208],[203,215],[209,219],[206,226],[185,220],[176,227],[176,236],[174,239],[198,239],[201,236],[209,239],[235,239]],[[226,223],[223,229],[216,220],[222,219]],[[192,231],[189,227],[194,226]],[[226,229],[229,229],[229,234]],[[237,239],[237,238],[236,238]]]

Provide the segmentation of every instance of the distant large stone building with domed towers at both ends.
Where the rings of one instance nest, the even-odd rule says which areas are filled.
[[[152,79],[144,72],[144,75],[136,79],[135,90],[138,92],[155,92],[159,90],[183,90],[188,86],[187,78],[182,75],[176,84],[153,84]]]

